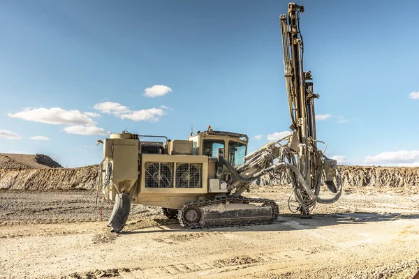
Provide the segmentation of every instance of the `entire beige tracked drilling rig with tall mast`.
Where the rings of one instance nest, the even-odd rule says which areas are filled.
[[[290,210],[309,217],[317,203],[332,203],[341,195],[335,160],[318,149],[311,72],[304,72],[304,45],[300,33],[303,6],[288,5],[281,15],[286,90],[291,114],[291,135],[247,154],[247,135],[212,130],[191,133],[188,140],[137,135],[123,131],[103,142],[98,186],[115,202],[108,226],[120,232],[131,202],[160,206],[168,218],[187,228],[258,225],[279,215],[272,199],[243,196],[249,183],[269,172],[290,172],[293,198]],[[166,139],[142,141],[145,137]],[[323,142],[321,142],[323,143]],[[335,193],[318,197],[325,184]],[[296,205],[293,205],[296,204]]]

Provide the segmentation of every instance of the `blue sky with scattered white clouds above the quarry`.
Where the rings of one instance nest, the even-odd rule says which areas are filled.
[[[419,2],[297,3],[327,155],[419,165]],[[262,146],[291,123],[279,25],[287,5],[1,1],[0,152],[75,167],[100,162],[94,142],[108,131],[173,140],[207,125]]]

